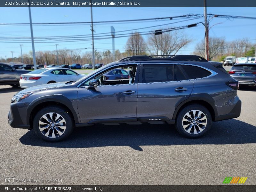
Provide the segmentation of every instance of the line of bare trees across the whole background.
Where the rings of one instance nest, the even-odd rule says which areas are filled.
[[[186,47],[194,40],[185,34],[183,31],[169,31],[160,35],[150,34],[145,39],[139,32],[133,32],[124,46],[125,51],[115,50],[115,60],[120,60],[132,55],[164,55],[170,56],[177,54],[181,48]],[[227,42],[225,37],[210,37],[209,38],[209,58],[214,61],[221,61],[226,56],[254,56],[255,43],[249,38],[236,39]],[[204,39],[196,44],[195,54],[204,57]],[[92,63],[92,52],[82,53],[79,50],[58,50],[59,65],[72,63]],[[11,62],[12,58],[7,58],[7,61],[2,58],[1,62]],[[21,62],[21,57],[14,58],[14,62]],[[113,62],[113,53],[110,50],[96,51],[95,63],[107,64]],[[23,54],[23,63],[33,64],[32,52]],[[56,51],[37,51],[36,64],[38,65],[57,64]]]

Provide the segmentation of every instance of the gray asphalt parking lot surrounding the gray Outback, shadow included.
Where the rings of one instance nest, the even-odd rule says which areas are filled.
[[[58,143],[8,124],[18,91],[0,86],[1,185],[29,184],[5,178],[41,180],[33,185],[222,185],[235,176],[248,177],[243,185],[256,184],[256,88],[240,86],[241,116],[212,123],[199,139],[183,138],[165,124],[94,125]]]

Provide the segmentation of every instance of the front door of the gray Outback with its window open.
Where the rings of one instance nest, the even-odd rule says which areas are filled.
[[[133,65],[133,73],[135,73],[136,67],[137,65]],[[105,72],[107,73],[109,70]],[[101,75],[103,76],[105,72]],[[92,120],[107,122],[108,119],[112,119],[112,122],[114,122],[113,119],[116,119],[116,122],[129,121],[131,118],[136,120],[138,84],[134,82],[129,84],[129,79],[120,79],[104,81],[105,85],[98,85],[90,89],[86,89],[84,86],[79,87],[77,108],[81,123],[88,123]]]

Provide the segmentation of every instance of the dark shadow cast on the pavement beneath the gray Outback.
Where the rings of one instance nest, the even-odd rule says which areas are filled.
[[[55,148],[92,148],[106,146],[130,146],[142,151],[152,145],[243,144],[256,143],[256,127],[230,119],[213,122],[211,130],[198,139],[183,138],[168,124],[102,125],[79,127],[64,141],[49,143],[39,139],[33,130],[20,138],[24,145]]]

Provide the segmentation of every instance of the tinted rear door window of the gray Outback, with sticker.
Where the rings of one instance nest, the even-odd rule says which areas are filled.
[[[172,64],[143,64],[142,83],[173,81]]]

